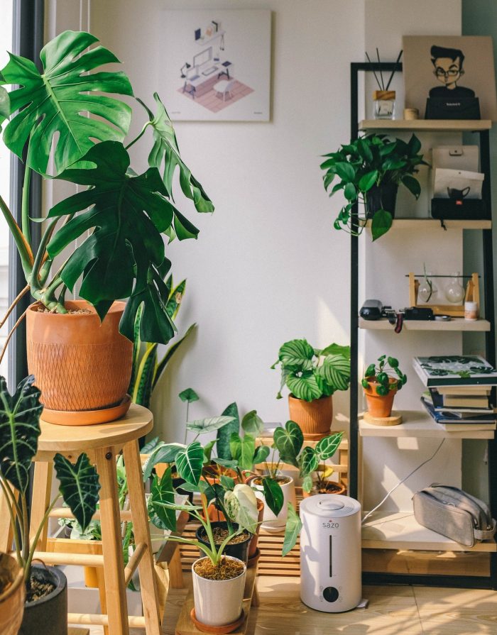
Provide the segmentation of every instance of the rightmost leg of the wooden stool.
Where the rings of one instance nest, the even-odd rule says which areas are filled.
[[[124,465],[126,466],[126,477],[128,478],[129,504],[135,541],[137,545],[145,543],[146,546],[148,546],[138,565],[146,634],[160,635],[160,619],[162,616],[159,615],[157,580],[155,579],[138,441],[129,441],[126,443],[123,448],[123,455]]]

